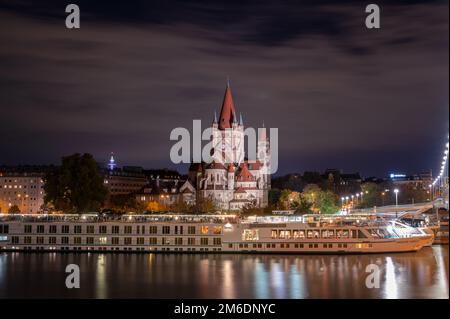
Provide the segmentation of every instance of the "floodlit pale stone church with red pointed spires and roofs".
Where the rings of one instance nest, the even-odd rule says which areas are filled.
[[[266,129],[258,130],[255,159],[245,156],[244,123],[236,113],[227,85],[219,118],[212,123],[212,162],[192,164],[189,179],[197,199],[210,199],[218,209],[266,207],[270,189],[270,145]]]

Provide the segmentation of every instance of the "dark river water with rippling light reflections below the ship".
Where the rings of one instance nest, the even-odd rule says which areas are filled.
[[[448,298],[448,246],[387,255],[1,253],[0,298]],[[81,288],[65,287],[80,266]],[[368,289],[368,264],[380,289]]]

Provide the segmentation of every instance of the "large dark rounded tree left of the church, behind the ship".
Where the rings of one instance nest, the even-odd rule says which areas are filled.
[[[62,158],[60,167],[44,177],[45,203],[64,212],[98,211],[108,194],[100,169],[91,154]]]

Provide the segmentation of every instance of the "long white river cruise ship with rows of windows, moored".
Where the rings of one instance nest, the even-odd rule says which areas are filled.
[[[0,250],[8,251],[384,253],[432,240],[374,215],[0,215]]]

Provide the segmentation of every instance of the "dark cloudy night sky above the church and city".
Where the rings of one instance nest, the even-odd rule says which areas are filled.
[[[0,164],[114,152],[183,171],[170,131],[209,125],[229,76],[245,125],[279,128],[278,174],[440,167],[447,1],[93,2],[0,0]]]

